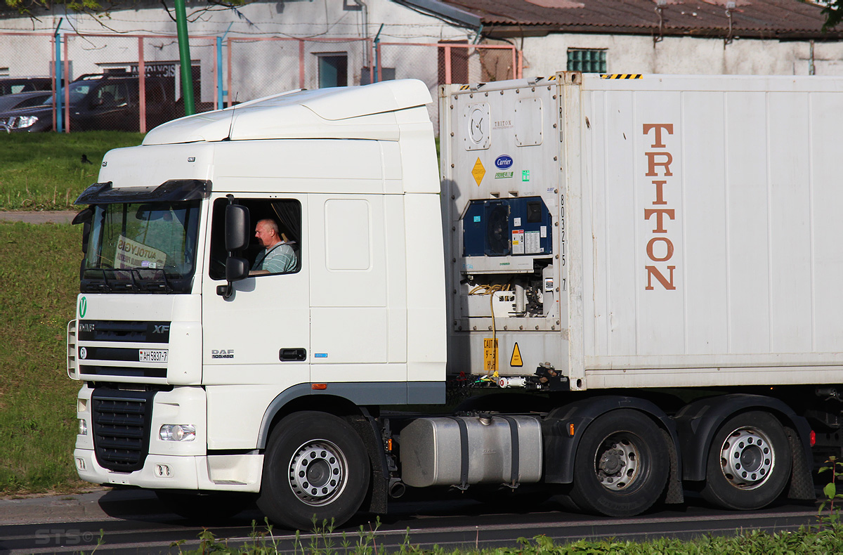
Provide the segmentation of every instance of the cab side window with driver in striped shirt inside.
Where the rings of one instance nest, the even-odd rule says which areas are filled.
[[[302,205],[295,199],[240,198],[234,202],[249,208],[252,240],[239,254],[260,275],[295,273],[302,267]],[[208,275],[225,278],[225,207],[227,198],[213,204],[211,255]]]

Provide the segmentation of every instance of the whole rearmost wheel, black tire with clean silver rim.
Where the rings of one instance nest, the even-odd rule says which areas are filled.
[[[769,412],[744,412],[714,434],[702,497],[724,509],[760,509],[790,478],[792,453],[781,423]]]

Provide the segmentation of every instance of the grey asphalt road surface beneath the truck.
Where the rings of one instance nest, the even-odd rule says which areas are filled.
[[[377,530],[372,542],[379,548],[400,546],[409,529],[410,542],[421,547],[515,547],[518,537],[545,535],[558,542],[580,538],[647,540],[658,536],[690,539],[706,534],[729,535],[740,529],[766,531],[797,530],[816,522],[813,503],[781,503],[759,511],[732,512],[713,509],[691,498],[684,506],[667,506],[630,519],[611,519],[566,512],[558,499],[513,511],[505,502],[481,504],[457,494],[447,500],[416,498],[390,503],[389,515],[376,527],[372,516],[359,515],[332,534],[319,538],[301,536],[304,547],[312,541],[330,539],[340,547],[342,533],[357,543],[360,527],[365,533]],[[249,541],[252,521],[266,532],[257,509],[247,509],[234,519],[210,530],[234,547]],[[178,552],[199,546],[196,525],[168,512],[152,493],[137,490],[108,490],[68,497],[0,500],[0,553],[91,552],[103,531],[101,553]],[[293,552],[295,536],[273,530],[279,551]],[[299,546],[301,551],[302,547]]]

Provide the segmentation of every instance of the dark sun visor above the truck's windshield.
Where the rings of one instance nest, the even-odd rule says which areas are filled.
[[[73,204],[114,204],[116,202],[195,201],[211,192],[211,181],[196,179],[165,181],[158,186],[114,188],[111,181],[94,183]]]

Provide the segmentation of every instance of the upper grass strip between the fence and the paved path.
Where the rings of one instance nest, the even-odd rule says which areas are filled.
[[[95,183],[111,148],[140,144],[141,133],[0,133],[0,210],[69,210]],[[91,164],[83,164],[85,154]]]

